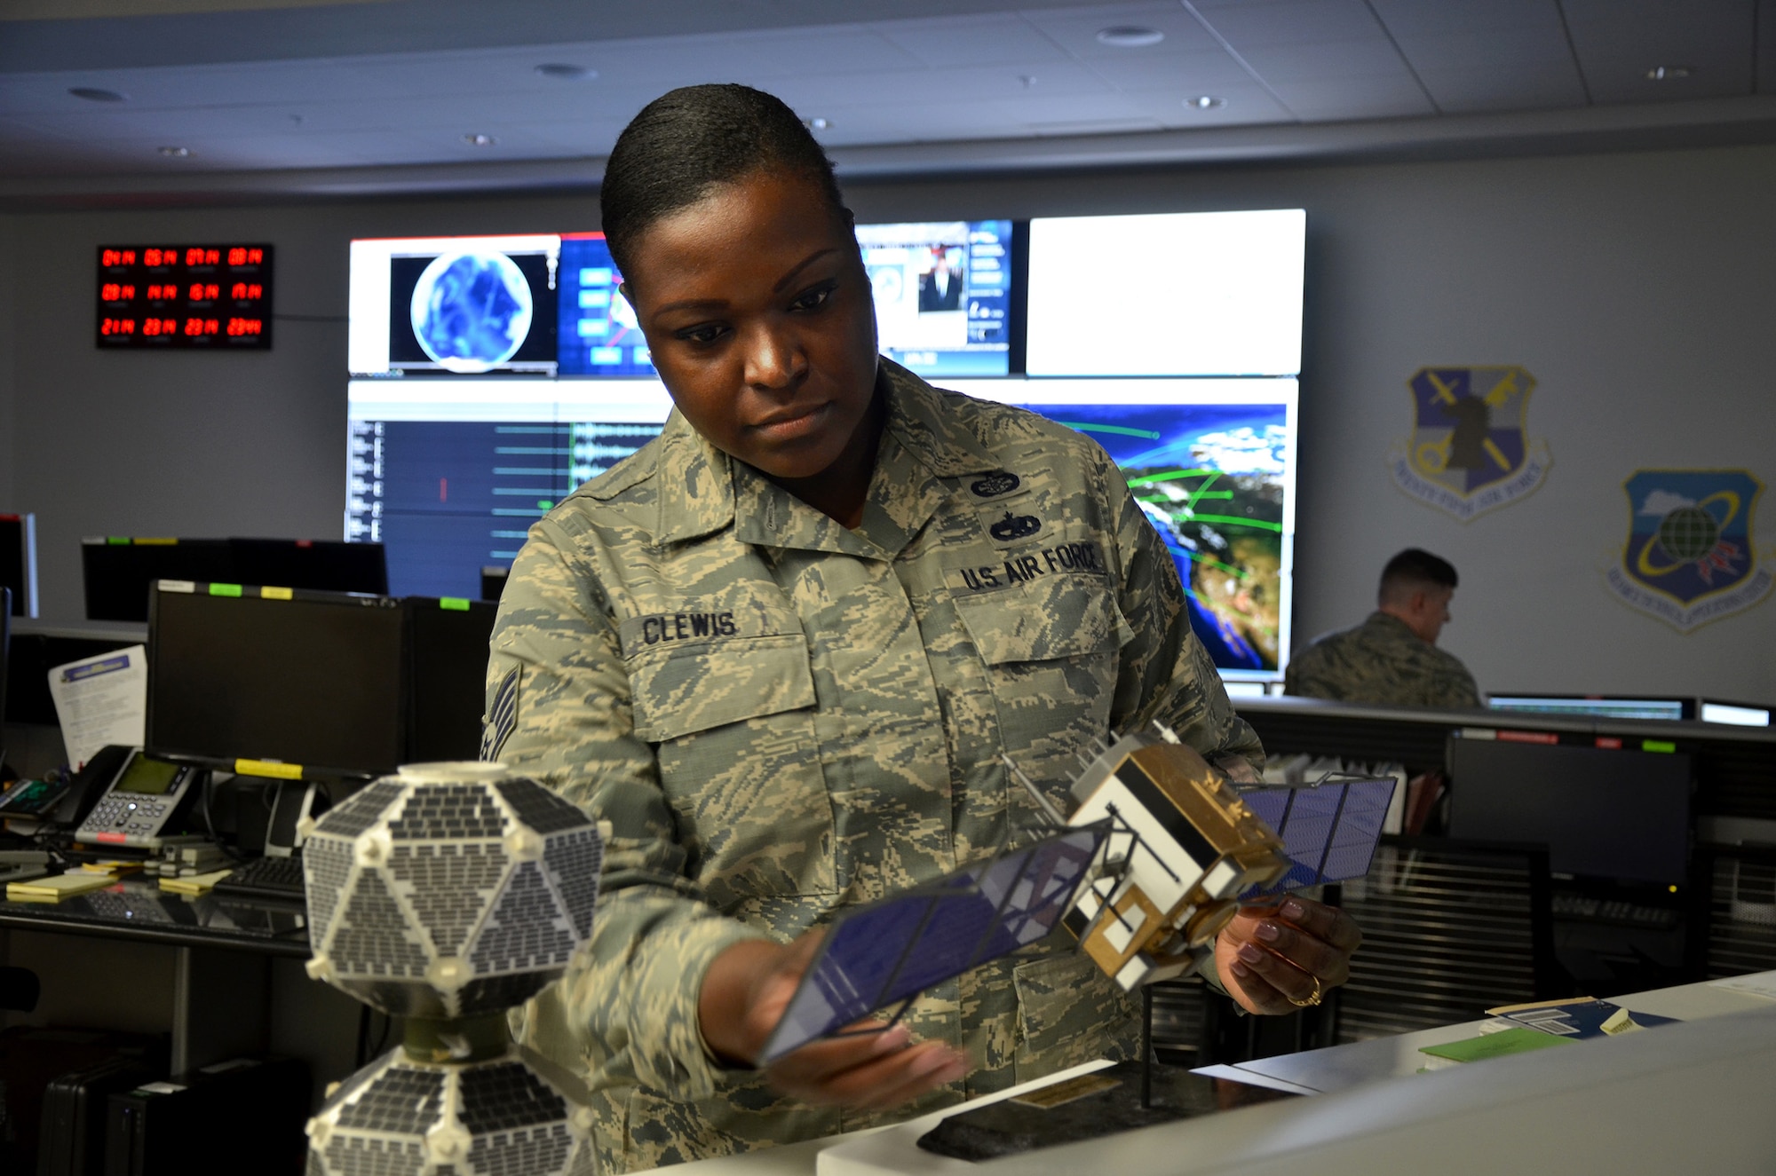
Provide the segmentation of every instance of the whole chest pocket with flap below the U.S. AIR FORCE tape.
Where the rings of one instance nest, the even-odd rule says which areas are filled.
[[[1105,576],[1044,576],[1018,588],[955,599],[986,663],[1000,739],[1014,760],[1071,755],[1103,737],[1119,650],[1135,631]]]

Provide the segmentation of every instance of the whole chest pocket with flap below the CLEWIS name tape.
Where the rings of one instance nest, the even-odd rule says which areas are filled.
[[[744,634],[625,659],[687,872],[728,913],[836,892],[808,643],[794,613],[755,615]]]

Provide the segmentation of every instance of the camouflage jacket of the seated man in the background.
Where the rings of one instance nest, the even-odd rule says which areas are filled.
[[[1369,613],[1360,625],[1328,632],[1304,648],[1289,661],[1284,689],[1392,707],[1479,705],[1467,666],[1389,613]]]

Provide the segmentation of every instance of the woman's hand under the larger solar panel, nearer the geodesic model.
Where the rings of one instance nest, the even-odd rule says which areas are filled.
[[[783,1018],[821,931],[790,945],[746,940],[716,956],[698,995],[703,1041],[730,1064],[753,1064]],[[968,1073],[968,1059],[941,1041],[913,1043],[906,1025],[870,1018],[845,1036],[812,1041],[765,1068],[778,1091],[805,1103],[881,1110]]]

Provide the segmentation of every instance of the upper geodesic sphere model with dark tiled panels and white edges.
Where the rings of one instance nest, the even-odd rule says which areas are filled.
[[[392,1016],[524,1004],[591,933],[602,842],[499,764],[416,764],[332,808],[302,851],[309,975]]]

